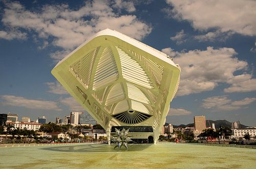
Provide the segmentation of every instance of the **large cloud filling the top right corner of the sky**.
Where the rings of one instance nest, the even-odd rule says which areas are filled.
[[[188,20],[194,29],[256,35],[256,1],[250,0],[166,0],[173,7],[165,11],[174,18]]]

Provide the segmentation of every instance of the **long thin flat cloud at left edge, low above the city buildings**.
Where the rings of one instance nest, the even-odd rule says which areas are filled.
[[[57,110],[61,109],[57,106],[57,102],[42,101],[42,100],[30,100],[21,96],[15,95],[1,95],[0,97],[4,102],[2,105],[26,107],[29,109],[42,109],[42,110]]]

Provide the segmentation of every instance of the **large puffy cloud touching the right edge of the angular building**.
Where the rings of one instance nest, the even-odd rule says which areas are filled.
[[[247,70],[247,62],[235,56],[237,52],[232,48],[221,47],[214,49],[207,47],[205,51],[191,50],[175,52],[165,48],[162,52],[175,56],[174,61],[181,67],[181,80],[177,95],[187,95],[213,90],[220,83],[227,83],[230,87],[225,92],[246,92],[256,90],[256,79],[251,74],[237,74],[238,70]]]

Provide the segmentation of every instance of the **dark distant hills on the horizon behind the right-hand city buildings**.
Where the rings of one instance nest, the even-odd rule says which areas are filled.
[[[211,126],[212,123],[215,124],[215,128],[217,128],[217,129],[220,128],[220,126],[231,128],[231,122],[228,122],[225,119],[220,119],[220,120],[210,120],[209,119],[209,120],[206,120],[206,127],[209,127],[209,124]],[[174,128],[179,128],[179,127],[185,128],[185,127],[193,127],[193,126],[194,126],[194,123],[190,123],[190,124],[187,124],[187,125],[179,125],[179,126],[174,125]],[[241,124],[241,127],[242,128],[246,128],[248,126],[245,126],[245,125]]]

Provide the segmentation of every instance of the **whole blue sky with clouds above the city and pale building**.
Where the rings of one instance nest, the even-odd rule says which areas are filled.
[[[180,64],[167,123],[205,115],[256,126],[255,1],[0,1],[0,11],[0,113],[54,121],[82,110],[51,69],[110,28]]]

